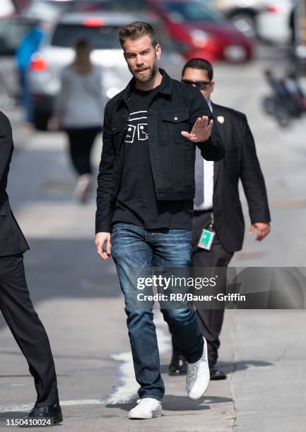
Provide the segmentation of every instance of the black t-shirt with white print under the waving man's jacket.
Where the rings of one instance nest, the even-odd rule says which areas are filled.
[[[148,148],[147,109],[158,87],[131,89],[129,122],[124,136],[124,167],[112,223],[146,229],[192,229],[193,200],[158,201]]]

